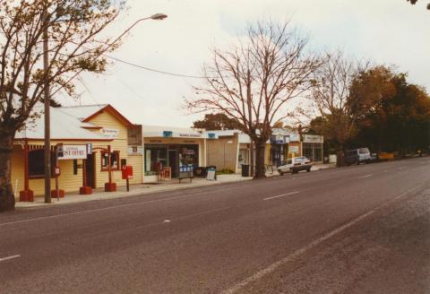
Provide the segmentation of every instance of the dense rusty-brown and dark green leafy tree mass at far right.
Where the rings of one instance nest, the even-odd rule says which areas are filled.
[[[356,144],[400,154],[430,144],[430,99],[425,89],[407,82],[406,73],[383,66],[361,73],[351,86],[352,100],[371,97],[372,106],[357,121]]]

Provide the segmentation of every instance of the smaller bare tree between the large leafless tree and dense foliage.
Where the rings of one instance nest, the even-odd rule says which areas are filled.
[[[349,59],[341,50],[326,54],[323,65],[313,74],[308,96],[311,103],[300,111],[307,117],[319,117],[318,131],[335,143],[339,165],[343,164],[345,144],[354,136],[360,115],[357,106],[361,104],[351,102],[351,85],[367,65]]]

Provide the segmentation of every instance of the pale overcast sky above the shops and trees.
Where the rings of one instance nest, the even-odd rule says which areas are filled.
[[[430,11],[427,1],[406,0],[129,0],[129,10],[108,32],[120,34],[139,18],[166,13],[163,21],[133,28],[112,56],[170,73],[200,75],[211,48],[225,47],[247,23],[271,18],[310,36],[310,48],[344,48],[351,56],[398,65],[409,82],[430,90]],[[184,97],[201,80],[154,73],[113,63],[107,73],[84,74],[81,101],[110,103],[133,123],[190,126],[202,115],[188,115]]]

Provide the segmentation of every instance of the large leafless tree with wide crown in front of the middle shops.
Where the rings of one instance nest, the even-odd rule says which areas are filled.
[[[194,87],[196,96],[186,105],[193,112],[220,111],[235,119],[255,144],[255,177],[265,177],[271,127],[287,117],[287,102],[309,89],[320,62],[306,54],[307,39],[288,23],[258,22],[246,32],[233,49],[214,50],[211,64],[203,66],[204,85]]]

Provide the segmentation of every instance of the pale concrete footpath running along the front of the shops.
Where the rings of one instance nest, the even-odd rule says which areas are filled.
[[[321,170],[321,169],[330,169],[334,168],[334,165],[322,164],[315,165],[312,170]],[[275,177],[279,176],[278,171],[276,169],[269,169],[266,173],[267,177]],[[153,194],[158,192],[166,192],[166,191],[174,191],[181,189],[189,189],[193,187],[200,186],[213,186],[225,183],[233,183],[233,182],[241,182],[251,180],[253,177],[241,177],[240,174],[230,174],[230,175],[218,175],[217,180],[207,180],[205,178],[193,178],[193,181],[190,182],[189,179],[183,179],[181,183],[179,183],[178,179],[172,179],[169,181],[162,181],[158,183],[148,183],[148,184],[139,184],[139,185],[130,185],[130,191],[127,192],[125,186],[118,186],[116,192],[105,192],[103,188],[94,189],[92,195],[79,195],[77,192],[75,193],[66,193],[64,198],[60,198],[57,200],[56,198],[52,198],[51,203],[45,203],[43,197],[35,197],[34,202],[20,202],[18,199],[16,200],[15,208],[16,209],[26,209],[26,208],[36,208],[36,207],[46,207],[52,205],[62,205],[69,203],[82,203],[87,201],[95,201],[95,200],[105,200],[105,199],[114,199],[114,198],[124,198],[135,195],[145,195],[145,194]]]

